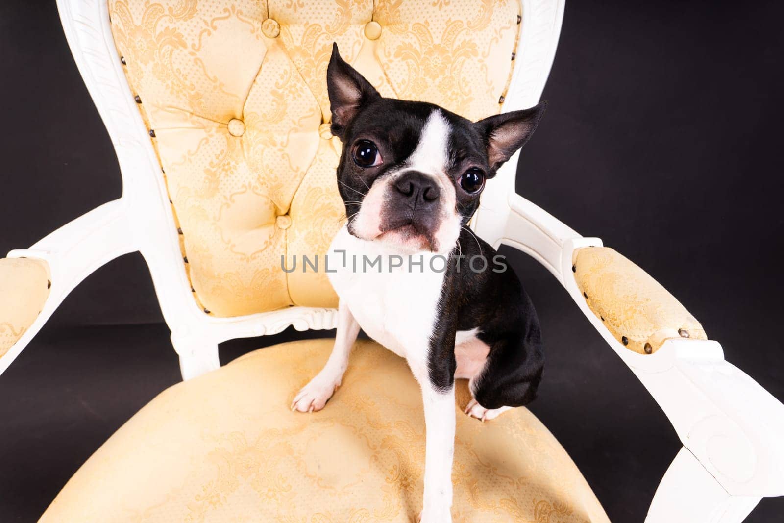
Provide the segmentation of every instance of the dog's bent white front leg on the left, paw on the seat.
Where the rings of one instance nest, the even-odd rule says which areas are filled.
[[[343,380],[343,372],[348,366],[348,357],[351,354],[351,347],[357,341],[359,334],[359,324],[354,319],[354,315],[348,310],[348,306],[343,300],[338,303],[338,327],[335,336],[335,346],[329,354],[324,368],[321,372],[310,380],[292,401],[292,410],[299,412],[315,412],[324,409],[327,400],[332,398],[332,394]]]

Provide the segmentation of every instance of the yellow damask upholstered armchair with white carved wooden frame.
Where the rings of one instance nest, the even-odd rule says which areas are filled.
[[[383,95],[478,119],[539,101],[563,0],[58,5],[124,191],[0,260],[0,372],[79,281],[138,250],[186,381],[98,449],[43,520],[410,521],[424,426],[404,361],[358,343],[347,387],[299,416],[292,395],[330,340],[263,348],[223,368],[218,343],[335,325],[323,271],[281,268],[287,252],[323,255],[343,213],[325,89],[332,42]],[[784,493],[771,435],[784,407],[641,269],[515,194],[516,160],[488,185],[472,227],[543,263],[670,417],[684,449],[649,520],[739,521],[760,496]],[[740,408],[727,387],[758,407]],[[453,479],[459,521],[607,520],[527,409],[484,425],[458,416]]]

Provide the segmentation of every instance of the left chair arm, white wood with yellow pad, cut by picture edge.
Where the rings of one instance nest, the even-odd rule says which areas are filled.
[[[0,260],[0,374],[76,285],[138,249],[128,216],[122,198],[108,202]]]

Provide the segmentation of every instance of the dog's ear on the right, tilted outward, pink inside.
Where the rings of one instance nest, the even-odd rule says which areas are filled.
[[[544,114],[545,107],[547,102],[539,102],[530,109],[495,114],[474,124],[477,125],[481,135],[485,136],[488,164],[492,169],[498,169],[531,138]]]

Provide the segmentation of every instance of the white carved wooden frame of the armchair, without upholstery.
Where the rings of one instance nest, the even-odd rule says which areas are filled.
[[[214,318],[191,296],[161,168],[125,80],[106,0],[57,0],[74,60],[107,127],[122,174],[122,198],[108,202],[9,257],[46,260],[49,299],[34,324],[0,359],[5,371],[68,292],[114,258],[139,251],[184,379],[217,369],[218,343],[240,337],[333,329],[336,311],[291,307],[240,318]],[[553,62],[564,0],[521,0],[522,27],[503,111],[539,101]],[[583,238],[515,194],[517,156],[488,185],[474,218],[477,234],[542,263],[572,296],[615,353],[659,403],[683,448],[662,478],[646,521],[742,521],[762,496],[784,495],[784,405],[735,366],[716,341],[668,340],[654,354],[623,347],[589,310],[572,278],[572,252]]]

